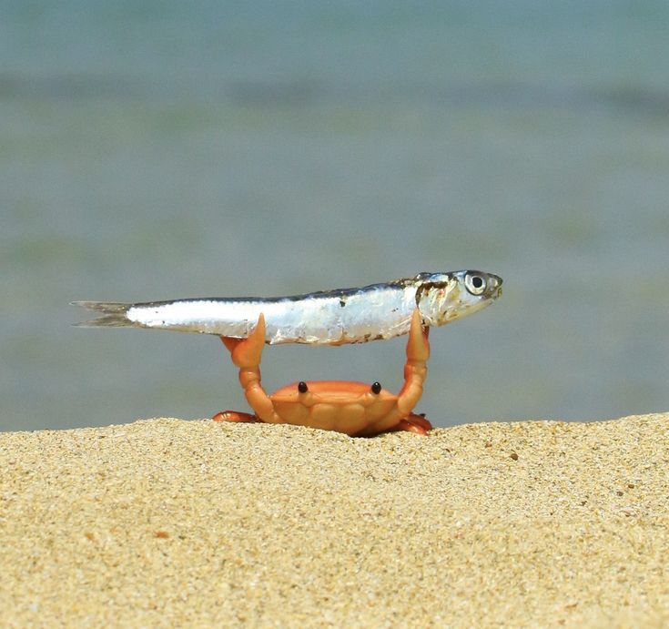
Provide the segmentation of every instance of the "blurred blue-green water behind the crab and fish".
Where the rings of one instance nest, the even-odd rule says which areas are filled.
[[[435,424],[669,410],[669,5],[3,3],[0,428],[246,409],[213,337],[72,299],[505,279],[431,334]],[[264,382],[400,387],[404,341]]]

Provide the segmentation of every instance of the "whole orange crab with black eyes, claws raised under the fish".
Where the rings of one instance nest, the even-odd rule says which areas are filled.
[[[256,328],[246,339],[220,337],[232,362],[239,368],[239,382],[255,414],[222,411],[214,421],[261,421],[289,423],[362,437],[390,431],[425,435],[431,430],[424,415],[413,413],[421,399],[422,384],[430,357],[428,329],[414,309],[407,341],[404,386],[399,394],[347,380],[299,381],[268,395],[260,384],[260,358],[265,345],[265,317],[260,313]]]

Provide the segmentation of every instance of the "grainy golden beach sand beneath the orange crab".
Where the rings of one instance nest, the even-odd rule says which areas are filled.
[[[669,624],[669,413],[0,434],[3,625]]]

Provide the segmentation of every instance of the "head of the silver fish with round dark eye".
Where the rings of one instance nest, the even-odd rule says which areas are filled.
[[[477,270],[421,273],[416,304],[427,325],[440,326],[492,304],[502,295],[502,278]]]

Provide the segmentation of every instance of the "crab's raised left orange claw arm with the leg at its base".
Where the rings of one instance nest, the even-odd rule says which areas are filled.
[[[260,384],[260,358],[265,347],[265,317],[260,313],[258,325],[246,339],[230,339],[221,337],[220,340],[230,351],[232,362],[239,368],[239,383],[244,389],[248,405],[256,412],[260,421],[280,423],[281,419],[274,412],[274,406],[269,395]],[[224,411],[216,415],[217,421],[254,421],[253,415]]]

